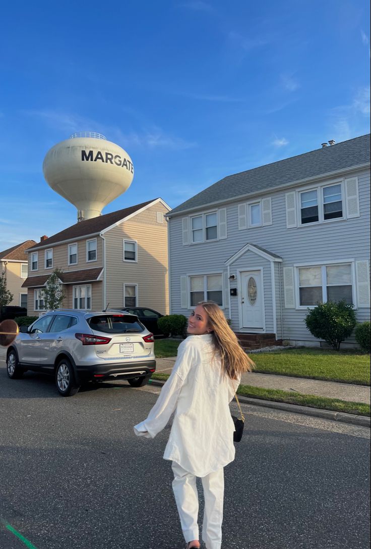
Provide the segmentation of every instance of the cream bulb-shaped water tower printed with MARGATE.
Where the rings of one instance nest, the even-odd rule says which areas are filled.
[[[74,133],[54,145],[45,155],[43,172],[49,186],[76,206],[78,221],[101,215],[134,177],[128,153],[94,132]]]

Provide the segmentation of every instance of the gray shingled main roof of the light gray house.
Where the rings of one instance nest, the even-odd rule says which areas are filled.
[[[370,134],[367,134],[224,177],[201,193],[176,206],[169,214],[362,166],[369,161]]]

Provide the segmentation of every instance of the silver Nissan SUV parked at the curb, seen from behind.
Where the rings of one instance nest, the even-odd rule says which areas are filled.
[[[82,382],[127,379],[145,385],[156,370],[153,334],[135,315],[74,309],[45,313],[7,350],[12,379],[27,370],[53,374],[59,393],[72,396]]]

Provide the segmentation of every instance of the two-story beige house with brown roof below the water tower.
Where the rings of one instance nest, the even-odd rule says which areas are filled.
[[[42,237],[28,251],[28,315],[44,312],[42,289],[55,269],[66,294],[62,307],[102,310],[146,306],[169,312],[170,208],[161,198],[87,219]]]

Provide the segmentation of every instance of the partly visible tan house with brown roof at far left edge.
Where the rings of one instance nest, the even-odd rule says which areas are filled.
[[[25,240],[13,248],[0,251],[0,273],[5,273],[7,290],[13,294],[9,305],[27,307],[27,289],[22,288],[28,275],[26,250],[35,244],[35,240]]]

